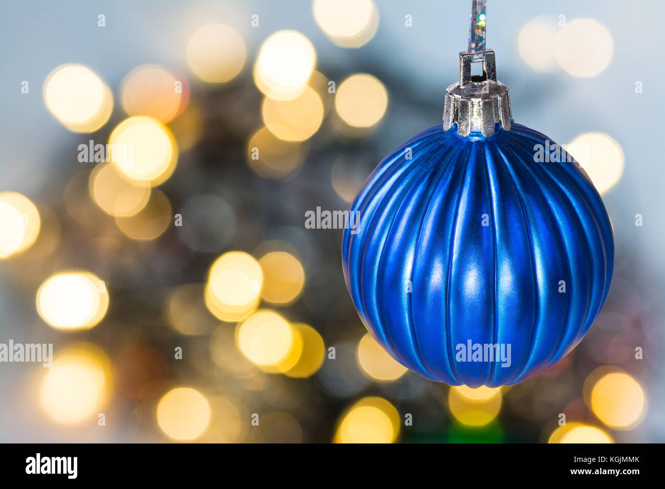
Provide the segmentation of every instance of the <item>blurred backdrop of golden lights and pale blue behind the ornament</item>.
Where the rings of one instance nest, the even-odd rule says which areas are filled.
[[[388,357],[341,231],[305,226],[441,122],[470,1],[0,3],[0,343],[55,357],[0,364],[0,440],[664,442],[662,5],[488,3],[513,117],[581,148],[616,268],[573,353],[475,390]]]

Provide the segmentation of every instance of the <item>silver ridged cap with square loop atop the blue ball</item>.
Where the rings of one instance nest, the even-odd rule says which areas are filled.
[[[480,132],[485,138],[494,134],[496,124],[510,130],[513,114],[508,87],[497,81],[494,51],[487,49],[483,74],[471,76],[473,54],[460,53],[460,82],[446,88],[444,130],[457,124],[460,136]]]

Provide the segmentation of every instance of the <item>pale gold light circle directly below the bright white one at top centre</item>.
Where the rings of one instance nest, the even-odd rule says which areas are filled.
[[[261,106],[265,126],[278,138],[300,142],[311,138],[323,122],[323,102],[313,88],[306,86],[291,100],[265,97]]]

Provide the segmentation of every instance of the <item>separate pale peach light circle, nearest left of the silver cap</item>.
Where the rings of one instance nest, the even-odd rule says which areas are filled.
[[[337,88],[337,114],[346,124],[368,128],[379,122],[388,108],[388,92],[372,75],[351,75]]]

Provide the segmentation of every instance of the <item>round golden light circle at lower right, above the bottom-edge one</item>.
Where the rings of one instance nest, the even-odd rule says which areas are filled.
[[[642,386],[627,373],[608,373],[591,391],[593,412],[610,428],[634,428],[642,421],[645,407]]]

